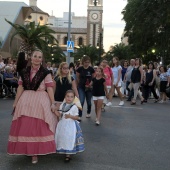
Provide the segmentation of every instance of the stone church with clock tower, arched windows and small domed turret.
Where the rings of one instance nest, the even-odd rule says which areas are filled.
[[[37,0],[30,0],[30,6],[35,9],[26,21],[36,21],[40,24],[49,24],[56,31],[55,38],[59,42],[59,46],[66,51],[67,34],[68,34],[68,18],[69,13],[64,12],[62,18],[49,16],[47,13],[40,11],[37,7]],[[103,0],[88,0],[87,16],[76,16],[71,13],[71,40],[74,41],[75,47],[80,45],[97,46],[103,44]],[[102,36],[101,36],[102,35]]]

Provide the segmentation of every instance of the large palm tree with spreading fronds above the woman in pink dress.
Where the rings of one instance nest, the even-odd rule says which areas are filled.
[[[19,52],[25,52],[30,55],[34,48],[39,48],[44,51],[44,47],[48,43],[57,43],[57,40],[52,35],[56,33],[54,30],[50,29],[47,25],[36,25],[35,22],[30,22],[26,25],[13,24],[12,22],[5,19],[14,29],[10,44],[16,35],[19,35],[22,39]],[[47,43],[48,42],[48,43]]]

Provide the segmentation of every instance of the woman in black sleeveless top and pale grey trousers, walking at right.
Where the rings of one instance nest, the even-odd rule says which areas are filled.
[[[131,82],[134,89],[134,97],[132,99],[131,105],[136,104],[137,95],[141,98],[141,104],[144,102],[143,97],[139,93],[140,84],[143,81],[143,68],[141,66],[141,60],[139,58],[135,59],[135,67],[132,70]]]

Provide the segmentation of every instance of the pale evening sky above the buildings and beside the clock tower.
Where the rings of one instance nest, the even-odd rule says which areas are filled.
[[[8,0],[9,1],[9,0]],[[29,0],[10,0],[25,2],[29,5]],[[75,16],[87,16],[88,0],[71,0],[71,11]],[[122,21],[121,11],[126,6],[127,0],[103,0],[103,44],[105,51],[111,45],[121,42],[125,22]],[[62,17],[63,12],[69,10],[69,0],[37,0],[37,6],[49,15]]]

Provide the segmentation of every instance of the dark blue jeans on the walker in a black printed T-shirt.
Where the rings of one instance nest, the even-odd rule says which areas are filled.
[[[84,88],[78,87],[78,93],[79,93],[79,99],[80,99],[80,103],[82,105],[82,109],[83,109],[84,101],[85,101],[85,98],[86,98],[87,114],[90,114],[92,91],[85,91]],[[82,117],[82,111],[81,110],[79,110],[79,116]]]

